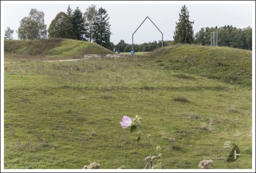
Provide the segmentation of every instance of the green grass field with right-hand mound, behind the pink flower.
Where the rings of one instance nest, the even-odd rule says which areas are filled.
[[[215,60],[225,68],[209,68]],[[250,51],[185,45],[134,58],[42,62],[25,56],[5,63],[4,169],[80,169],[91,162],[143,169],[154,151],[144,138],[134,142],[137,132],[121,128],[123,115],[143,118],[161,146],[163,169],[197,169],[204,157],[216,169],[251,169],[250,61]],[[237,73],[240,67],[246,72]],[[236,78],[211,77],[214,70]],[[235,162],[218,159],[232,149],[223,148],[226,141],[240,149]]]

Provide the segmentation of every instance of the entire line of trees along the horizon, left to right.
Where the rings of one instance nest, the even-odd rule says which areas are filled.
[[[194,34],[192,25],[194,21],[189,20],[189,10],[183,5],[179,13],[178,22],[176,22],[173,41],[164,41],[163,46],[170,44],[200,44],[210,45],[210,34],[213,31],[218,32],[218,46],[227,46],[240,49],[252,50],[252,28],[247,27],[238,29],[232,26],[224,27],[206,27],[201,28]],[[29,16],[20,21],[20,27],[17,30],[19,39],[42,39],[48,37],[70,38],[95,42],[109,50],[115,48],[120,52],[130,52],[131,44],[121,40],[117,45],[110,42],[109,17],[106,9],[96,8],[96,5],[89,6],[84,13],[77,7],[75,10],[67,7],[67,11],[59,12],[51,22],[48,29],[44,24],[43,11],[31,9]],[[12,39],[13,29],[7,27],[4,39]],[[135,52],[148,52],[161,47],[160,41],[149,43],[134,44]]]

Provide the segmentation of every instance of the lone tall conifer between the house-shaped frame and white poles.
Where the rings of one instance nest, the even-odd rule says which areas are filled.
[[[179,22],[176,22],[174,31],[174,43],[193,43],[193,27],[194,21],[189,20],[189,10],[186,5],[181,8],[179,13]]]

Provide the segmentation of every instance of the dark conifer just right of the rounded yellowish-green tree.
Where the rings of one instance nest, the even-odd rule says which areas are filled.
[[[72,39],[75,40],[86,40],[86,37],[88,37],[86,29],[85,29],[85,23],[83,18],[83,13],[81,10],[76,7],[74,12],[72,13],[71,17],[71,23],[72,23]]]

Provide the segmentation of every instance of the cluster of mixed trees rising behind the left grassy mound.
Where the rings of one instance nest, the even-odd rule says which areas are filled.
[[[69,38],[95,42],[112,49],[110,26],[106,9],[91,5],[83,13],[78,7],[72,10],[68,5],[67,11],[59,12],[48,29],[44,24],[43,11],[32,8],[29,16],[21,19],[17,33],[19,39]],[[12,34],[13,30],[7,28],[4,39],[12,39]]]

